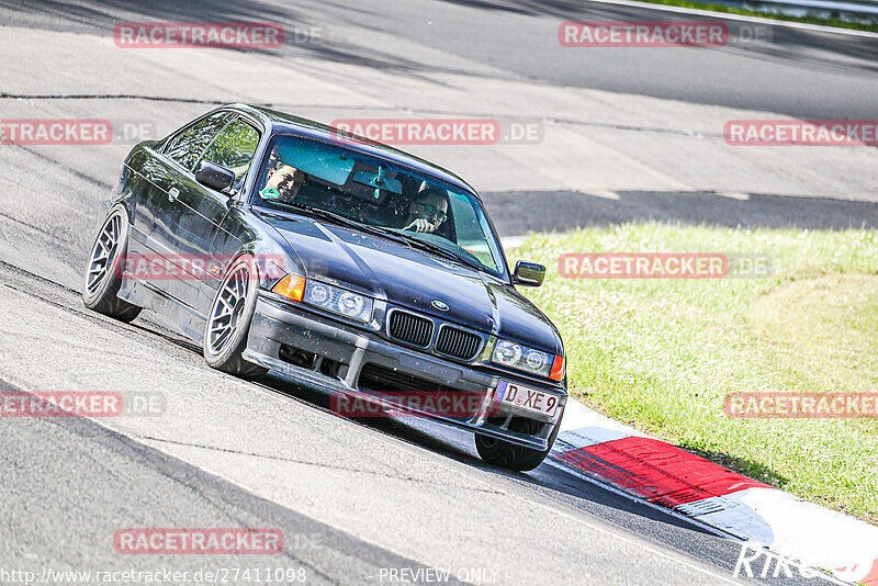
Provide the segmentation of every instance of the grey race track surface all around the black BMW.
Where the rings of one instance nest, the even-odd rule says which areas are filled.
[[[403,568],[448,570],[452,583],[738,582],[740,544],[727,536],[560,467],[486,465],[462,432],[352,421],[289,381],[233,379],[161,317],[119,324],[85,309],[78,293],[100,202],[135,139],[235,101],[324,122],[399,112],[539,120],[538,145],[413,149],[472,178],[504,236],[649,217],[878,225],[874,149],[739,156],[716,135],[747,112],[878,117],[876,40],[772,27],[768,45],[587,58],[553,43],[563,20],[664,18],[536,0],[0,2],[0,119],[106,117],[153,134],[0,145],[0,390],[165,402],[142,416],[0,420],[0,570],[193,576],[246,565],[304,568],[308,584],[387,584]],[[113,45],[115,23],[150,20],[271,21],[325,38],[264,53]],[[598,161],[594,173],[576,174],[581,160]],[[547,212],[528,214],[534,204]],[[246,559],[119,554],[114,533],[136,527],[278,528],[285,548]]]

